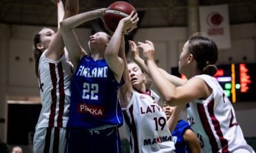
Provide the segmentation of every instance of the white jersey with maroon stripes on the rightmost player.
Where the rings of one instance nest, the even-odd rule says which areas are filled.
[[[233,106],[219,82],[209,75],[197,75],[195,78],[202,78],[212,89],[206,100],[187,104],[188,120],[198,136],[202,152],[253,152],[244,140]]]

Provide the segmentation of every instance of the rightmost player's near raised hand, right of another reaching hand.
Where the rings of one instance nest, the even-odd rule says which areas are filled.
[[[153,60],[155,58],[155,46],[153,44],[153,42],[146,40],[145,43],[144,42],[138,42],[138,48],[142,49],[143,51],[143,57],[144,57],[144,61],[147,64],[148,60]]]

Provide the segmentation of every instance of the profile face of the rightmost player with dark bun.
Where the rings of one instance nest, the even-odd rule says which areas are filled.
[[[180,73],[184,74],[184,67],[186,67],[187,65],[188,55],[189,55],[189,50],[188,50],[188,41],[187,41],[182,48],[182,53],[180,54],[180,59],[178,61],[178,71]]]

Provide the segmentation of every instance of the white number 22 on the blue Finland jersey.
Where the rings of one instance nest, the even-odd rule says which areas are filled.
[[[83,99],[98,100],[99,85],[83,83]]]

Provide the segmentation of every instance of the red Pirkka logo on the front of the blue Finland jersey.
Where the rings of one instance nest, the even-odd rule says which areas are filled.
[[[93,116],[103,116],[105,109],[94,105],[78,104],[78,113],[90,113]]]

